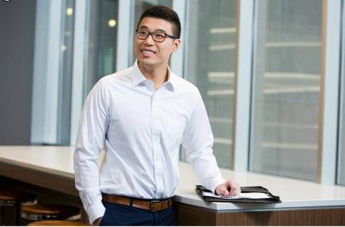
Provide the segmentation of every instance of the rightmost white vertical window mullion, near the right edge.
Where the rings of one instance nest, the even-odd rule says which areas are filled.
[[[317,182],[334,185],[338,138],[341,0],[322,1],[322,59]]]

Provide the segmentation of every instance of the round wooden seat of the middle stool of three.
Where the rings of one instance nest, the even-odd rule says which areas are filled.
[[[23,206],[21,211],[23,219],[41,220],[69,220],[75,221],[81,218],[80,209],[75,206],[56,204],[35,204]]]

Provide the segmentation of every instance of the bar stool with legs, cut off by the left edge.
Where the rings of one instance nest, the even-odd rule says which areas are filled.
[[[15,209],[14,224],[16,226],[21,225],[21,208],[23,205],[32,205],[37,203],[37,197],[35,194],[27,192],[9,192],[7,190],[0,190],[0,210],[4,222],[4,206],[13,206]]]

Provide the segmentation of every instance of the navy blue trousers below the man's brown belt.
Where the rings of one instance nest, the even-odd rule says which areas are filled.
[[[172,206],[163,211],[147,211],[133,206],[103,202],[106,213],[100,226],[176,226]]]

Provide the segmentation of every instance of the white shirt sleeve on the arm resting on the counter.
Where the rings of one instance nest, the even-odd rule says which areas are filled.
[[[201,184],[215,192],[215,188],[225,182],[213,155],[213,133],[208,114],[200,93],[196,105],[183,133],[182,146],[186,149],[188,163],[191,163]]]

